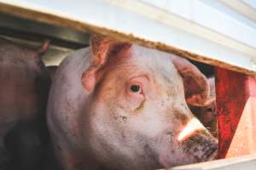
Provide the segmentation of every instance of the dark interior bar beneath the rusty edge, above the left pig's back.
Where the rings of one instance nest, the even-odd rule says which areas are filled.
[[[0,35],[20,37],[35,41],[49,39],[51,44],[67,48],[83,48],[88,45],[89,34],[69,28],[56,27],[10,14],[0,13]]]

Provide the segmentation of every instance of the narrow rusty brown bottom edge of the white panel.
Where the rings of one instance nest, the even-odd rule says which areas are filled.
[[[36,20],[38,22],[43,22],[50,25],[54,25],[54,26],[63,26],[63,27],[72,28],[77,31],[82,31],[82,32],[88,31],[90,33],[102,34],[102,35],[113,37],[126,42],[135,42],[139,45],[143,45],[148,48],[156,48],[162,51],[166,51],[167,53],[177,54],[182,57],[199,61],[208,65],[214,65],[214,66],[222,67],[232,71],[238,71],[238,72],[249,74],[249,75],[256,75],[256,71],[252,71],[236,65],[230,65],[228,63],[218,61],[217,59],[210,59],[202,55],[190,53],[189,51],[186,51],[180,48],[174,48],[162,42],[148,41],[140,37],[135,37],[132,34],[125,34],[119,31],[113,31],[105,27],[92,26],[88,23],[82,23],[77,20],[67,19],[54,14],[42,13],[42,12],[34,11],[29,8],[20,8],[20,7],[9,5],[6,3],[0,3],[0,11],[6,14],[13,14],[21,18],[25,18],[28,20]]]

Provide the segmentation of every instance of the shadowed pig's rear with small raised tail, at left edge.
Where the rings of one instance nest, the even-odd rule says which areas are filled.
[[[0,39],[0,169],[40,169],[50,78],[38,50]]]

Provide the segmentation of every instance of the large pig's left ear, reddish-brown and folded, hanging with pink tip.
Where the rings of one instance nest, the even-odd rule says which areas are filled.
[[[101,79],[100,69],[106,64],[108,59],[127,47],[130,48],[131,44],[119,42],[110,37],[100,35],[92,35],[90,37],[90,66],[82,75],[82,84],[87,91],[93,91],[96,82],[99,82]]]

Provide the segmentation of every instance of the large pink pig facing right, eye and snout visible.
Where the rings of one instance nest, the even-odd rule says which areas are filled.
[[[47,108],[55,156],[68,170],[207,161],[217,141],[186,102],[208,97],[207,78],[187,59],[93,36],[55,72]],[[189,124],[198,128],[182,136]]]

